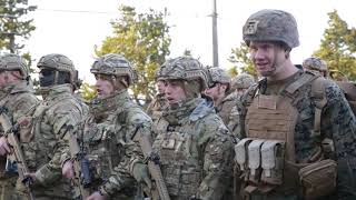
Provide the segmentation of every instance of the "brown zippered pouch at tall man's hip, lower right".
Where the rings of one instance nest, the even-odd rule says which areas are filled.
[[[337,164],[326,159],[312,163],[299,170],[299,181],[303,187],[303,197],[313,200],[334,192],[336,188]]]

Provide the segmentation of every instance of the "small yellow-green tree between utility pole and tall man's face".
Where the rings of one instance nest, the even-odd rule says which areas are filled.
[[[234,64],[234,68],[236,68],[229,69],[231,74],[241,70],[241,72],[249,73],[254,77],[257,76],[254,63],[249,58],[248,47],[245,42],[241,42],[239,48],[231,49],[231,56],[228,60]]]

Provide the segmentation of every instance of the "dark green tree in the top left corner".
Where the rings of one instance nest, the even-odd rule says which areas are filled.
[[[33,19],[24,17],[36,9],[28,0],[0,0],[0,50],[18,53],[23,48],[19,40],[29,39],[36,29]]]

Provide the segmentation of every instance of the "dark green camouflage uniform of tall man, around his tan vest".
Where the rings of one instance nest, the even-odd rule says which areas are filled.
[[[309,76],[310,74],[312,73],[309,73]],[[247,106],[247,109],[250,109],[249,104],[254,100],[254,97],[256,97],[256,92],[258,92],[258,94],[277,94],[283,97],[283,93],[286,92],[285,89],[294,82],[303,79],[300,78],[303,76],[304,72],[299,71],[284,81],[278,81],[278,83],[263,80],[258,86],[250,88],[249,91],[245,93],[243,97],[243,103],[244,106]],[[329,152],[330,154],[327,154],[325,151],[324,156],[326,158],[334,159],[337,162],[337,188],[333,194],[322,199],[355,199],[354,174],[356,172],[356,119],[352,113],[343,91],[333,81],[326,79],[323,80],[323,78],[320,79],[324,88],[322,94],[326,98],[326,104],[323,107],[320,116],[320,133],[315,132],[316,104],[320,102],[320,99],[312,98],[314,96],[312,92],[312,87],[314,86],[313,81],[303,84],[295,92],[296,96],[291,96],[294,99],[293,107],[297,109],[298,113],[296,126],[294,127],[295,143],[293,148],[295,149],[295,161],[297,164],[318,162],[315,159],[318,159],[320,156],[320,141],[323,139],[332,139],[335,151],[332,151],[332,153]],[[247,111],[247,113],[249,111]],[[246,134],[247,132],[244,132],[244,136]],[[298,179],[296,180],[298,181]],[[265,194],[255,191],[249,196],[249,198],[253,200],[261,198],[301,198],[300,193],[298,193],[298,191],[301,191],[300,186],[299,188],[291,188],[291,190],[288,191],[280,190],[280,188],[281,187],[269,193],[266,192]],[[324,191],[324,193],[330,191]]]

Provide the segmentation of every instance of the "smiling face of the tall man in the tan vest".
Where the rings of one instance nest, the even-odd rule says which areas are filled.
[[[255,69],[263,77],[270,77],[283,69],[286,61],[286,50],[273,42],[256,42],[249,44],[249,52]]]

